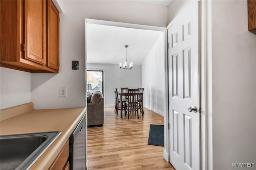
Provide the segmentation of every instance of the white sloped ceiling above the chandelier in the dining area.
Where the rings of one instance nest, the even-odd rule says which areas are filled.
[[[87,63],[141,65],[163,32],[117,26],[87,24]]]

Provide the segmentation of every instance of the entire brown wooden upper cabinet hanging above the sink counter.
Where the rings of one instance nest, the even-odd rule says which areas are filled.
[[[59,12],[51,0],[0,1],[1,67],[58,73]]]

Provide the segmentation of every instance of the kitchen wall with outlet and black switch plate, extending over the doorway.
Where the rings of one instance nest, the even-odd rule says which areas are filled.
[[[31,74],[31,101],[35,109],[85,106],[84,19],[166,26],[167,7],[134,1],[63,1],[60,14],[60,71]],[[79,70],[72,70],[72,60]],[[59,88],[68,87],[68,97]]]

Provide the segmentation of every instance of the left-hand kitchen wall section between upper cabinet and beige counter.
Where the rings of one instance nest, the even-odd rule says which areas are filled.
[[[31,102],[30,74],[24,71],[0,68],[0,109]]]

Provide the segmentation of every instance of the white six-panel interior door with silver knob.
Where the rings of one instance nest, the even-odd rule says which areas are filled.
[[[168,29],[169,153],[177,170],[200,170],[198,3],[194,1]]]

